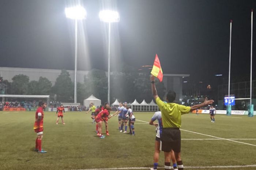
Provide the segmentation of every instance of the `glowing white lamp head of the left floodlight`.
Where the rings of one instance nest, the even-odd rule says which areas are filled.
[[[84,9],[84,7],[80,5],[75,7],[65,8],[65,14],[66,14],[66,17],[70,19],[76,19],[76,20],[86,19],[86,10]]]

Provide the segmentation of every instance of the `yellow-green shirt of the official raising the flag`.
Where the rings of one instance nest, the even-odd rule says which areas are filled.
[[[164,103],[159,97],[155,101],[162,113],[163,128],[180,128],[181,115],[189,113],[190,107],[176,103]]]

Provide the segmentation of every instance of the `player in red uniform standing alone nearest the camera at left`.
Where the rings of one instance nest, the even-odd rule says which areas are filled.
[[[37,133],[37,139],[35,140],[35,151],[38,153],[46,153],[42,150],[42,138],[44,131],[44,109],[46,107],[46,102],[39,101],[38,109],[35,112],[35,123],[34,130]]]

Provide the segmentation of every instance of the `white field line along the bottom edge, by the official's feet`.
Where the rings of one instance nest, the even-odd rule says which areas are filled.
[[[242,167],[256,167],[256,165],[184,166],[184,169],[242,168]],[[98,169],[76,169],[76,170],[125,170],[125,169],[150,169],[150,167],[98,168]],[[164,169],[164,167],[158,167],[158,169]]]

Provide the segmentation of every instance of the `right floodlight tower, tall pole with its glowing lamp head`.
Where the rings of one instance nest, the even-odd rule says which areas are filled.
[[[103,10],[99,12],[99,19],[109,24],[108,44],[108,103],[110,104],[110,25],[112,22],[119,22],[120,16],[117,11]]]

